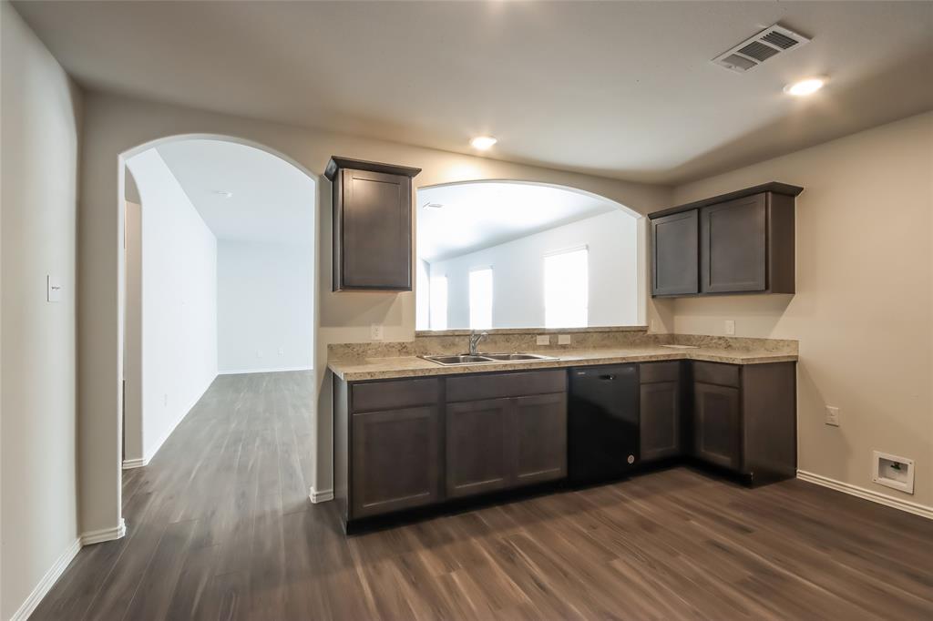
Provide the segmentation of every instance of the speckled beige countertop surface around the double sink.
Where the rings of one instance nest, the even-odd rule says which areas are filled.
[[[706,347],[680,349],[661,345],[586,350],[532,350],[528,353],[557,356],[558,359],[472,366],[441,366],[416,356],[393,356],[329,360],[327,366],[341,380],[361,381],[464,373],[493,373],[495,371],[521,369],[563,368],[567,366],[615,365],[659,360],[703,360],[705,362],[728,363],[731,365],[761,365],[797,361],[797,354],[795,353],[772,352],[765,349],[736,350]]]

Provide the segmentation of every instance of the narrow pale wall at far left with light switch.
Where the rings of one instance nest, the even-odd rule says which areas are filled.
[[[77,542],[75,242],[80,98],[7,2],[2,22],[0,618]],[[46,301],[57,275],[62,301]]]

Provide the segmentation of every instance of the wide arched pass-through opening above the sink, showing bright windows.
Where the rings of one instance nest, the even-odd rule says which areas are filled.
[[[419,330],[639,323],[639,214],[573,187],[419,188]]]

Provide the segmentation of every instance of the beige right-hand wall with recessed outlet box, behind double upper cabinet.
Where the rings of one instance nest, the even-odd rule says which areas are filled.
[[[799,467],[933,505],[933,113],[675,188],[676,202],[767,181],[797,200],[797,294],[678,299],[676,332],[800,339]],[[840,407],[842,425],[824,423]],[[912,458],[913,496],[871,481]]]

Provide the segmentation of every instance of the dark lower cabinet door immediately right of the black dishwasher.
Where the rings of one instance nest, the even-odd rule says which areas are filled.
[[[660,381],[641,385],[641,459],[643,462],[680,454],[680,384]]]

